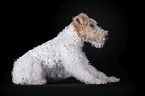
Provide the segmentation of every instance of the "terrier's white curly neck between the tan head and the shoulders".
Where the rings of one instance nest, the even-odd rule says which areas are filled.
[[[80,37],[78,37],[77,32],[75,32],[75,28],[72,23],[65,27],[65,29],[63,29],[62,32],[58,34],[58,36],[61,40],[63,40],[64,44],[70,46],[73,45],[76,47],[83,47],[84,45],[84,41]]]

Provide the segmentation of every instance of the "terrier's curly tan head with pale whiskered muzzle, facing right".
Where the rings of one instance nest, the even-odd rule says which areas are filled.
[[[85,13],[80,13],[73,18],[72,24],[74,25],[78,37],[86,42],[90,42],[96,48],[103,47],[108,31],[97,26],[95,20],[89,18]]]

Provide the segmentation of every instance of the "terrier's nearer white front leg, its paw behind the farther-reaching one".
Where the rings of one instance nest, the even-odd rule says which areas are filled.
[[[95,78],[93,74],[86,70],[84,63],[88,62],[84,62],[82,53],[65,50],[62,55],[62,62],[65,70],[81,82],[86,84],[104,84],[104,82]]]

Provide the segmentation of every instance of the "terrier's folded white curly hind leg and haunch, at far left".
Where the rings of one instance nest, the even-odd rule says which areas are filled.
[[[14,63],[12,82],[21,85],[42,85],[46,83],[42,73],[41,64],[25,55]]]

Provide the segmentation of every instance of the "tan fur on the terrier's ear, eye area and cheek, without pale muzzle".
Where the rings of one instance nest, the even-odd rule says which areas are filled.
[[[89,18],[85,13],[75,16],[72,24],[75,27],[78,37],[83,38],[85,41],[96,40],[99,36],[96,31],[96,21]]]

